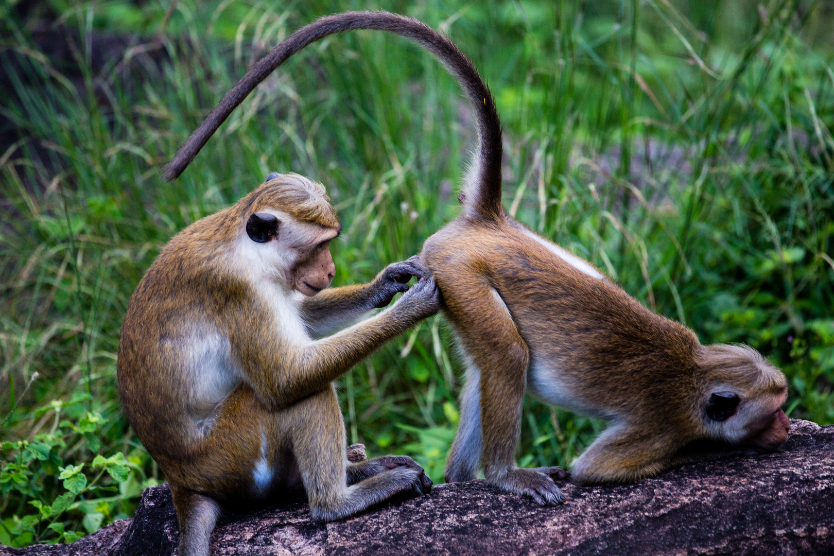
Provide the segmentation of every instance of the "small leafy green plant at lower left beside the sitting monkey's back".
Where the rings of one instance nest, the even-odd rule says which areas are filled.
[[[144,475],[141,457],[97,453],[104,423],[100,413],[86,409],[89,399],[77,394],[53,400],[34,412],[36,418],[54,413],[47,433],[3,442],[0,493],[17,508],[0,521],[0,543],[71,543],[128,517],[142,488],[157,483]]]

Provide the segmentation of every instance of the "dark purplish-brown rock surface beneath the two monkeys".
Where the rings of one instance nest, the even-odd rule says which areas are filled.
[[[540,508],[483,481],[436,486],[338,523],[314,523],[303,491],[219,523],[212,554],[834,554],[834,426],[791,421],[781,452],[685,465],[624,486],[560,483]],[[75,543],[0,556],[167,556],[178,528],[167,485],[132,520]]]

